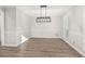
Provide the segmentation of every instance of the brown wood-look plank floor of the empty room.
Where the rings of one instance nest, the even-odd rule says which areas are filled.
[[[31,38],[18,47],[0,47],[1,57],[82,57],[59,38]]]

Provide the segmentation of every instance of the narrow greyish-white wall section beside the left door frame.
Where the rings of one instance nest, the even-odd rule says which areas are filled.
[[[16,46],[16,9],[6,8],[4,14],[4,46]]]

